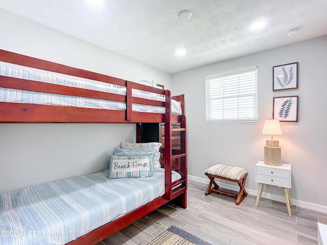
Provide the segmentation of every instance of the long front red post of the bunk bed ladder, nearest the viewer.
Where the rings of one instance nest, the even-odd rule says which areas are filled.
[[[172,114],[171,114],[171,92],[165,91],[166,96],[166,118],[165,118],[165,195],[167,200],[172,198]]]

